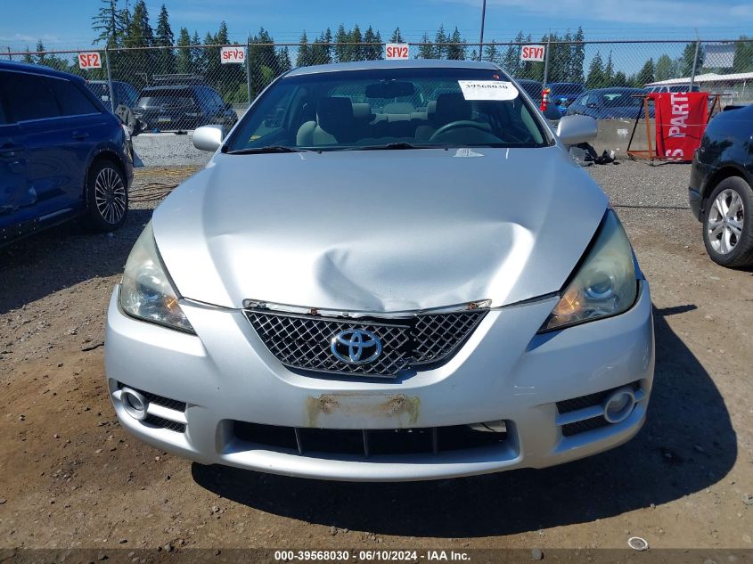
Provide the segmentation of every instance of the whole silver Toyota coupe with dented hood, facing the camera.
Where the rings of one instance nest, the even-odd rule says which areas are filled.
[[[294,69],[157,208],[107,320],[125,429],[203,464],[418,480],[625,443],[654,369],[625,230],[494,64]]]

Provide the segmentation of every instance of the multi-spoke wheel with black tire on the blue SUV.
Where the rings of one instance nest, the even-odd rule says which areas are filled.
[[[123,225],[127,215],[126,176],[110,159],[94,161],[86,175],[86,225],[94,231],[107,233]]]

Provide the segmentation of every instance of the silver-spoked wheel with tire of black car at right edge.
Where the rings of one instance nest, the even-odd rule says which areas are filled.
[[[721,266],[753,265],[753,191],[742,178],[720,182],[706,203],[703,242],[708,256]]]

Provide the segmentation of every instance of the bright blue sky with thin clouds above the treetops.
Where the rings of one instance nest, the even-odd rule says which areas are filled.
[[[120,0],[125,3],[125,0]],[[131,4],[135,0],[130,0]],[[152,26],[163,0],[147,0]],[[457,26],[478,42],[481,0],[164,0],[177,35],[181,27],[204,37],[225,20],[233,41],[242,42],[260,26],[277,42],[310,38],[343,23],[350,29],[372,25],[389,39],[400,27],[405,40],[433,38],[440,24]],[[91,18],[100,0],[0,0],[0,52],[86,48],[94,32]],[[563,34],[582,26],[586,39],[702,39],[753,36],[751,0],[487,0],[486,40],[510,40],[519,29],[540,38],[550,29]]]

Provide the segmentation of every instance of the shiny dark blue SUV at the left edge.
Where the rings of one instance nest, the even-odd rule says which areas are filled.
[[[82,78],[0,61],[0,245],[75,217],[117,229],[132,179],[126,132]]]

